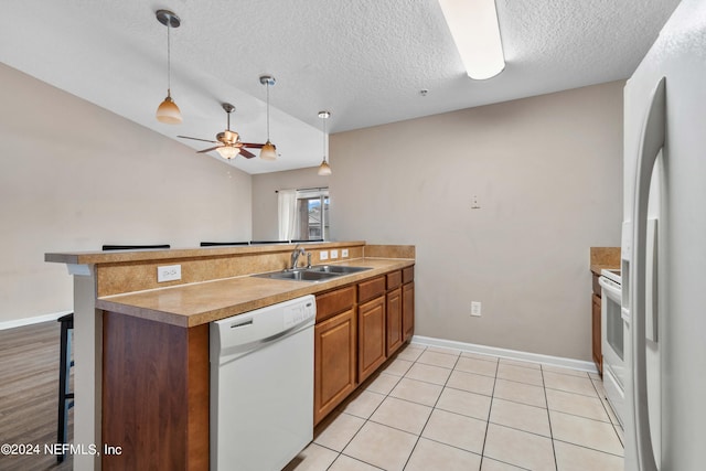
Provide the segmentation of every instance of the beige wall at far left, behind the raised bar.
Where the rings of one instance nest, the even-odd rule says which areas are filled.
[[[0,83],[0,327],[72,309],[46,251],[250,238],[248,174],[3,64]]]

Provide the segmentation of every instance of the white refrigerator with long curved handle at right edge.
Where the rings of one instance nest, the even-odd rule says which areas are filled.
[[[624,89],[625,470],[706,469],[706,1]]]

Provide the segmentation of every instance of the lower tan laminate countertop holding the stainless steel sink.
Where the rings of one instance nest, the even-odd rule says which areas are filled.
[[[335,265],[371,267],[370,270],[321,282],[244,276],[107,296],[96,300],[96,308],[191,328],[300,296],[315,295],[366,278],[374,278],[388,271],[410,267],[414,264],[414,259],[407,258],[360,258]]]

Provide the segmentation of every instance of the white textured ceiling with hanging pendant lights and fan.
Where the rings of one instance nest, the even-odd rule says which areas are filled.
[[[281,158],[233,162],[261,173],[321,161],[322,109],[338,132],[627,78],[678,0],[496,3],[507,65],[481,82],[466,75],[437,0],[2,0],[0,61],[172,138],[213,139],[229,101],[232,128],[256,142],[258,77],[271,74]],[[153,118],[167,88],[158,9],[182,20],[171,43],[180,126]]]

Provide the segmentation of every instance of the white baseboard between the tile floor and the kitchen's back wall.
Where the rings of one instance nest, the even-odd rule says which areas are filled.
[[[495,346],[478,345],[474,343],[457,342],[454,340],[435,339],[421,335],[414,335],[411,338],[411,343],[425,346],[460,350],[462,352],[478,353],[481,355],[500,356],[502,358],[518,360],[522,362],[539,363],[543,365],[578,370],[588,373],[598,373],[593,362],[584,362],[581,360],[565,358],[561,356],[543,355],[539,353],[521,352],[517,350],[499,349]]]

